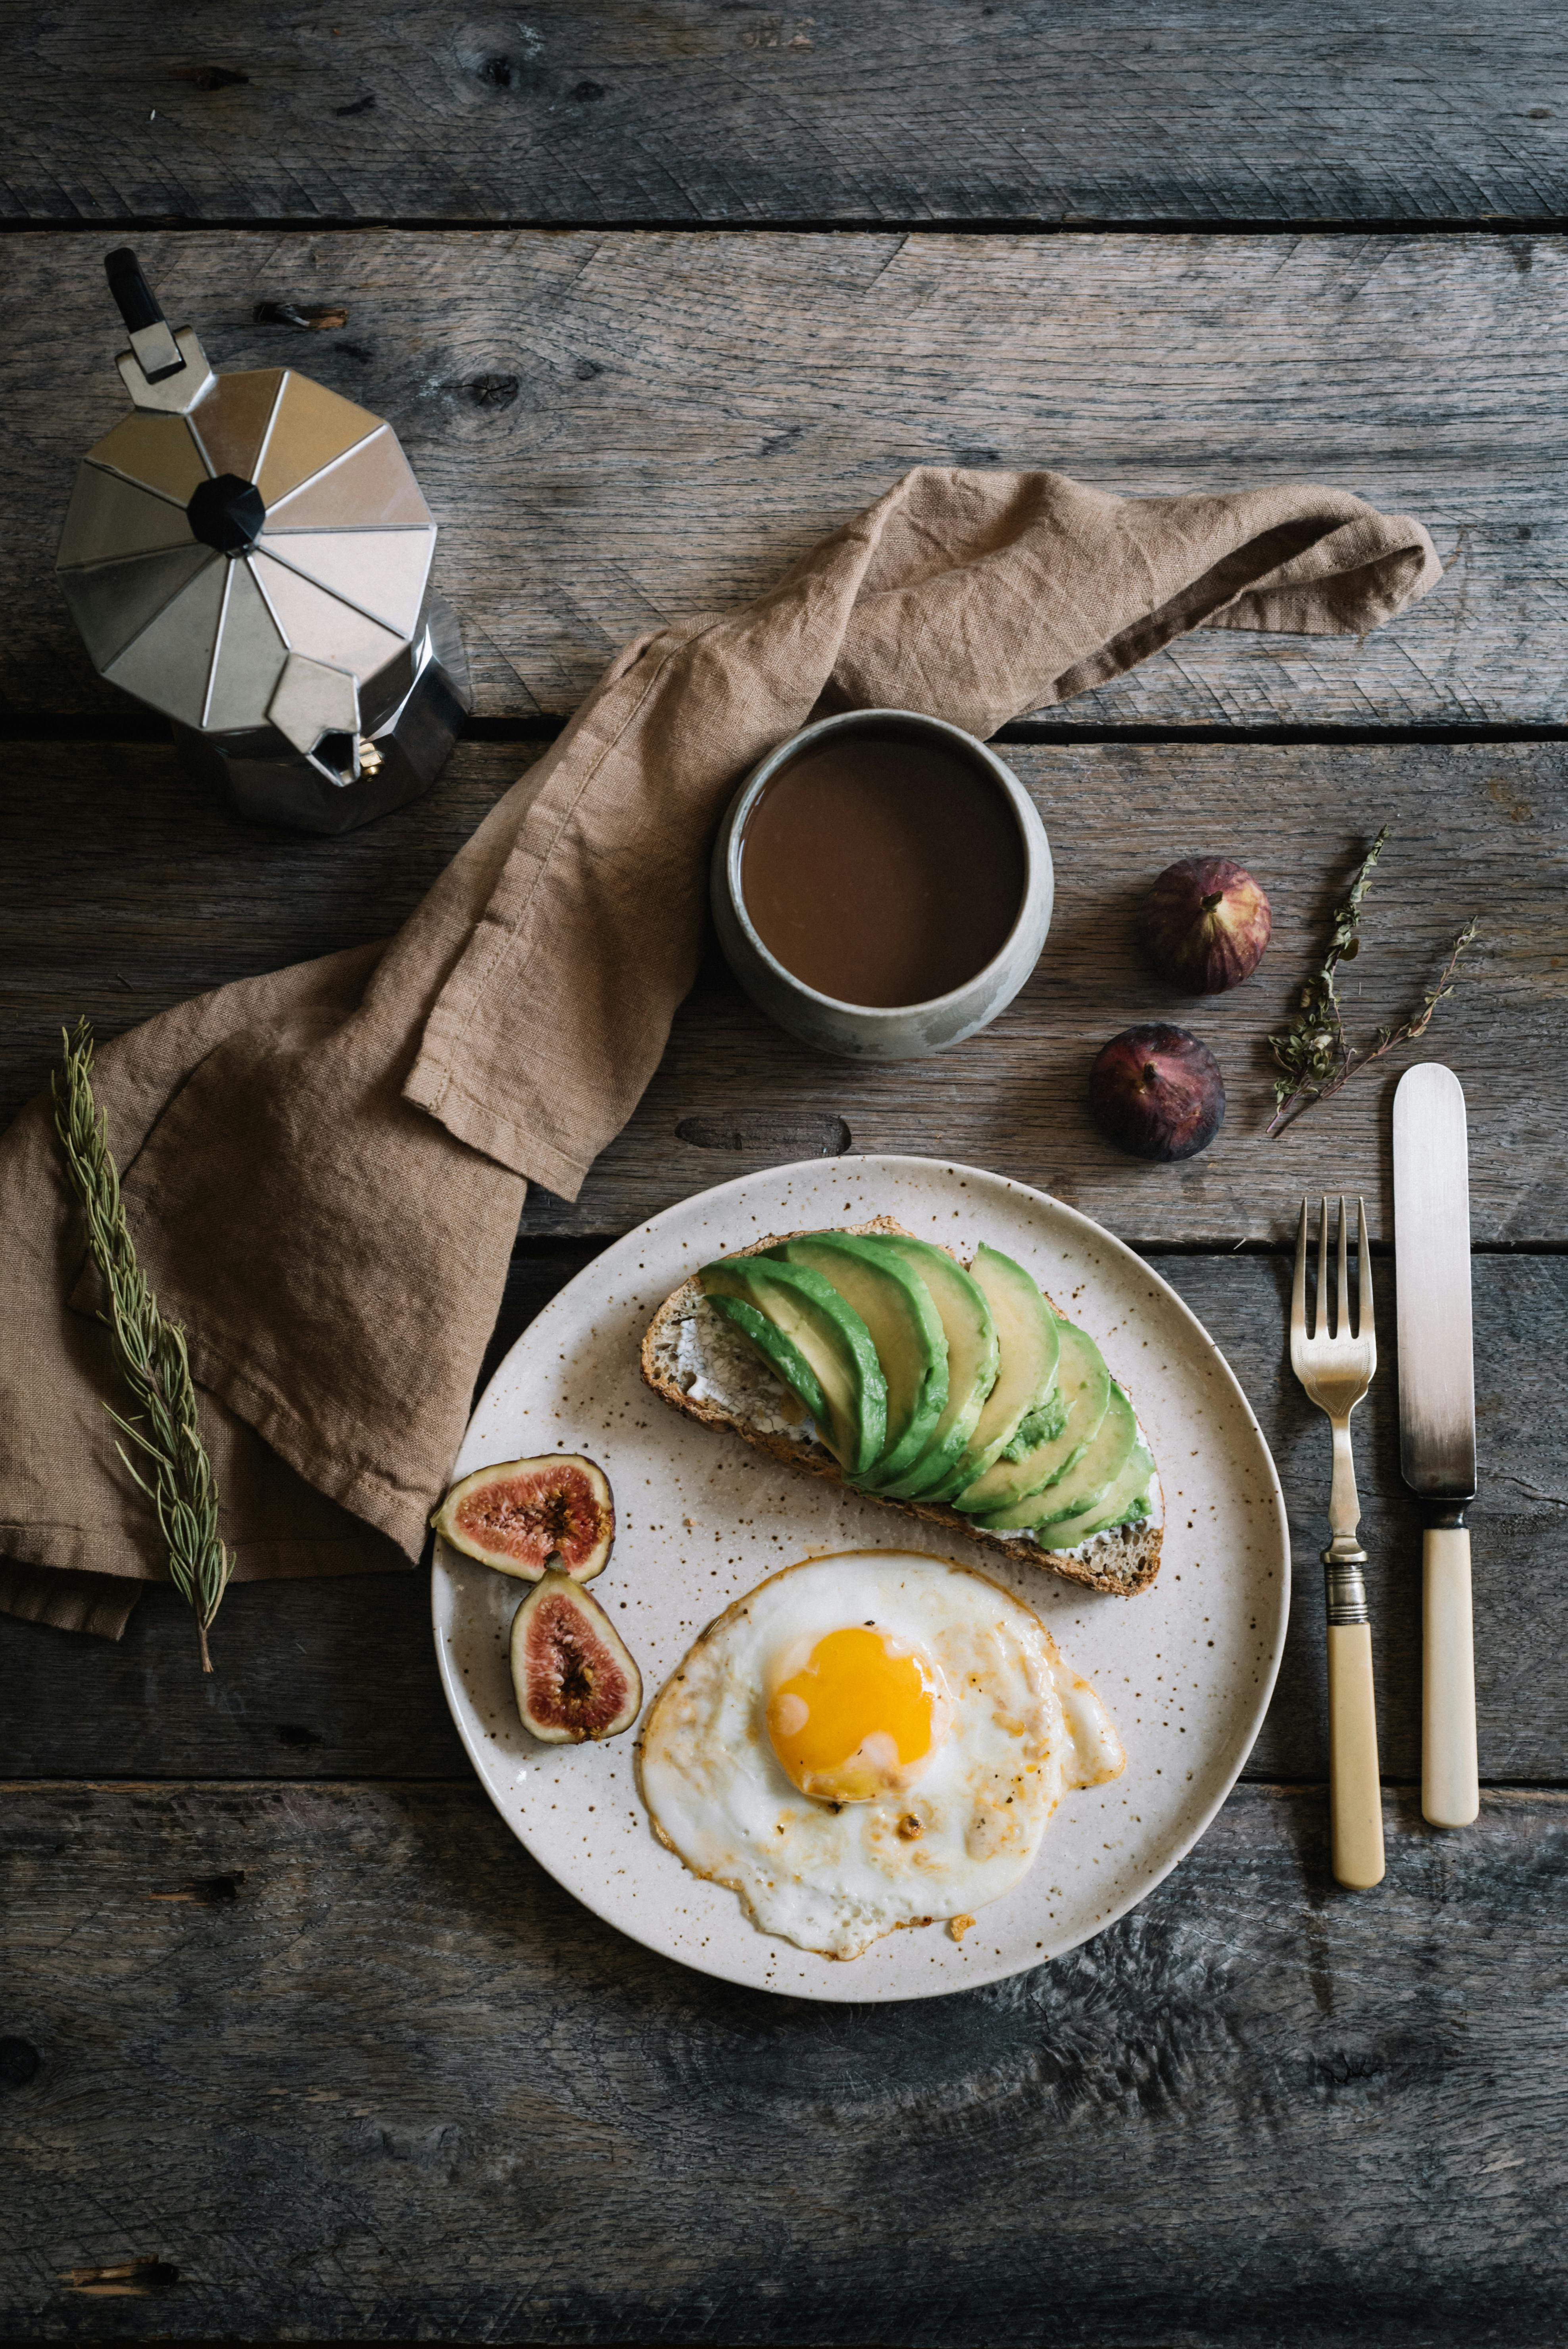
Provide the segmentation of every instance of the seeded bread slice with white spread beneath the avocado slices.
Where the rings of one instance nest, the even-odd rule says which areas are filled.
[[[904,1226],[894,1224],[890,1214],[878,1214],[871,1224],[845,1224],[843,1229],[857,1233],[904,1231]],[[758,1257],[765,1247],[777,1247],[779,1238],[793,1238],[793,1233],[753,1240],[751,1247],[737,1247],[735,1254]],[[789,1391],[761,1360],[753,1365],[751,1374],[756,1416],[746,1416],[737,1407],[718,1402],[714,1395],[688,1393],[688,1388],[702,1381],[695,1379],[681,1362],[681,1325],[688,1322],[702,1304],[704,1297],[692,1276],[664,1299],[660,1311],[648,1322],[648,1332],[643,1337],[643,1379],[655,1395],[669,1402],[671,1409],[685,1412],[688,1419],[699,1419],[707,1428],[728,1428],[730,1435],[742,1435],[749,1445],[756,1445],[758,1452],[768,1452],[772,1459],[786,1461],[791,1468],[805,1468],[810,1475],[822,1475],[831,1485],[845,1485],[845,1473],[833,1454],[826,1445],[805,1435],[805,1414],[793,1395],[789,1395]],[[800,1428],[800,1433],[791,1433],[791,1426],[786,1423],[791,1414],[793,1426]],[[965,1541],[979,1541],[991,1550],[1002,1550],[1007,1557],[1028,1557],[1033,1564],[1049,1567],[1052,1574],[1061,1574],[1070,1583],[1087,1583],[1091,1590],[1115,1590],[1120,1597],[1131,1597],[1134,1590],[1148,1590],[1160,1571],[1164,1501],[1160,1494],[1157,1470],[1153,1515],[1141,1517],[1136,1525],[1120,1525],[1108,1534],[1094,1534],[1077,1550],[1047,1550],[1028,1534],[991,1534],[960,1510],[944,1508],[941,1501],[890,1501],[878,1492],[864,1494],[864,1499],[876,1501],[878,1508],[897,1508],[904,1517],[920,1517],[925,1525],[939,1525],[948,1534],[962,1534]]]

